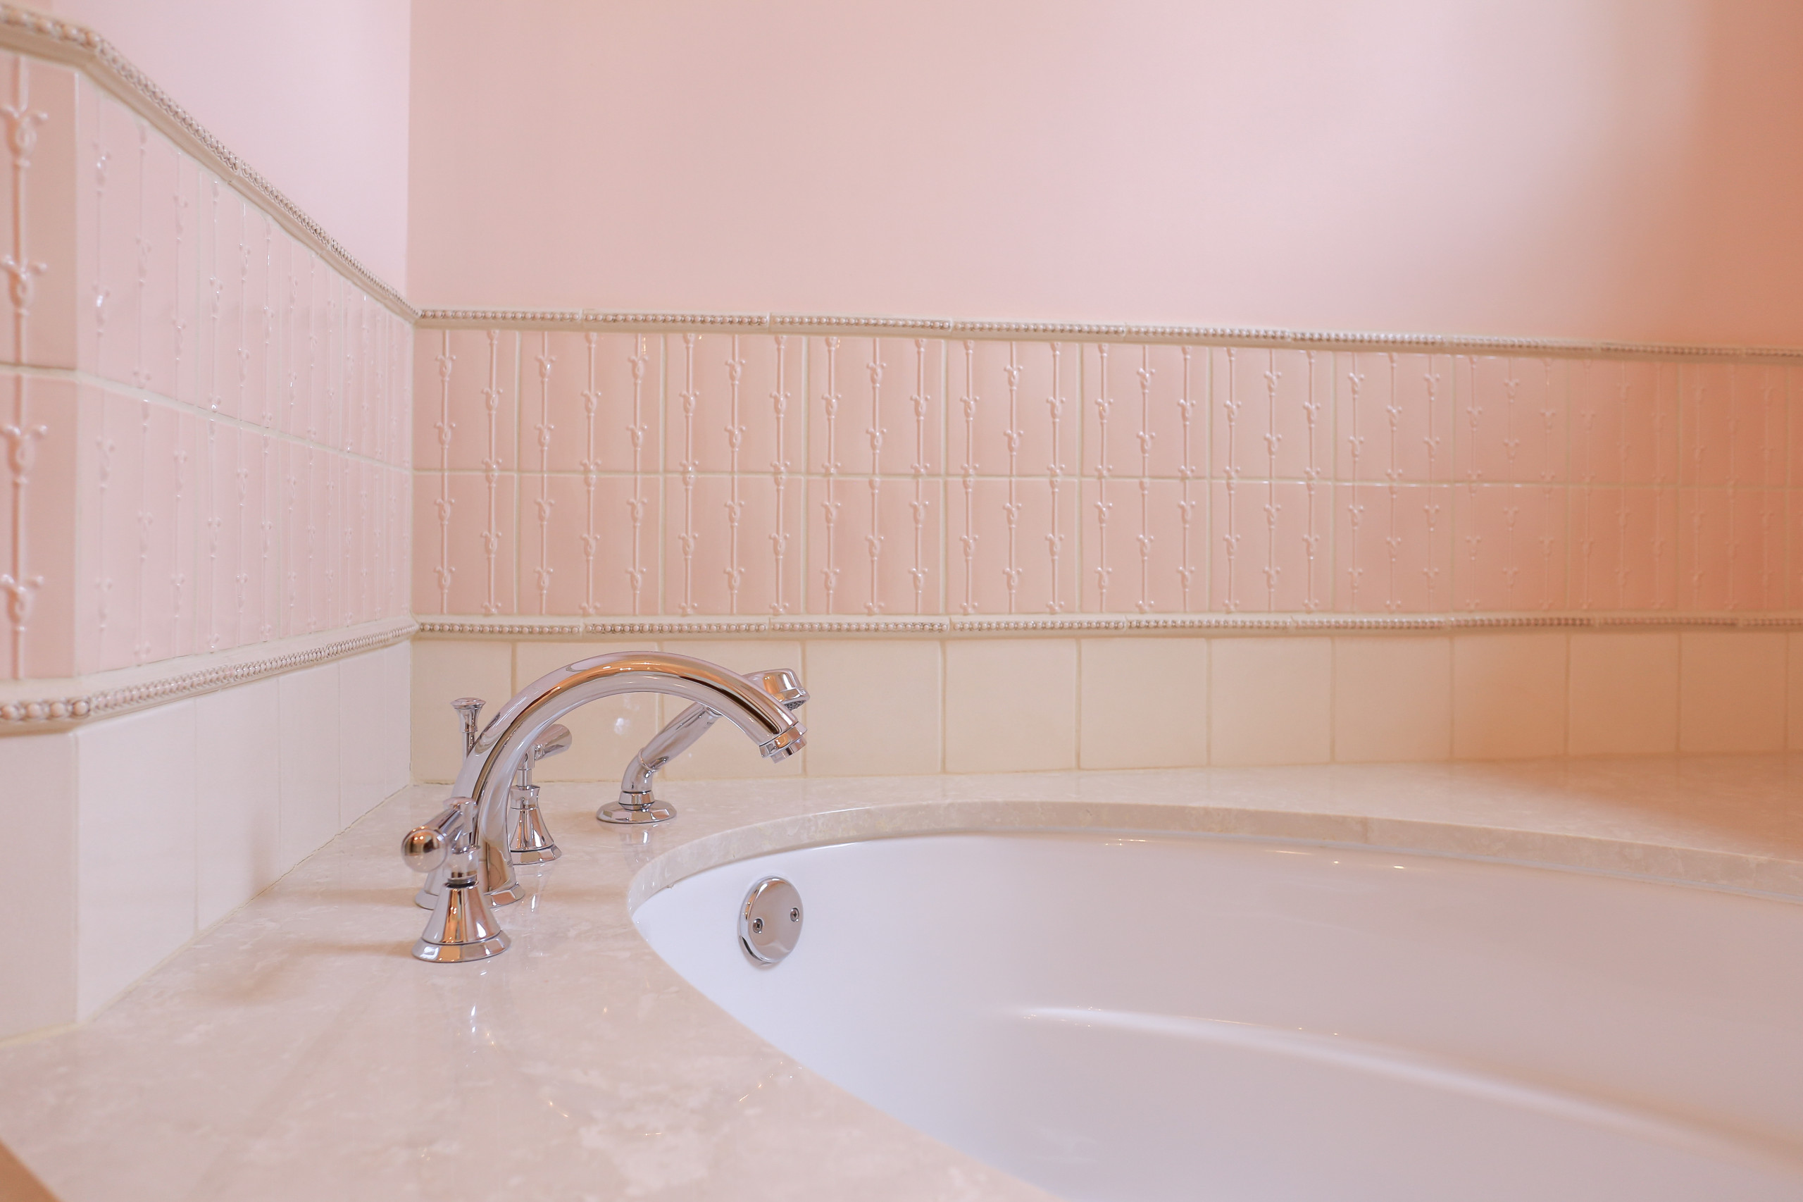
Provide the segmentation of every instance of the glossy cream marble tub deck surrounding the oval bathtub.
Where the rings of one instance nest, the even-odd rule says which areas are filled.
[[[424,911],[397,843],[447,791],[418,785],[88,1023],[0,1047],[0,1142],[63,1202],[1046,1198],[763,1043],[651,951],[629,906],[766,850],[1031,827],[1803,899],[1799,787],[1803,756],[671,781],[682,818],[627,832],[593,821],[602,787],[546,785],[564,857],[523,870],[514,948],[429,966],[407,955]]]

